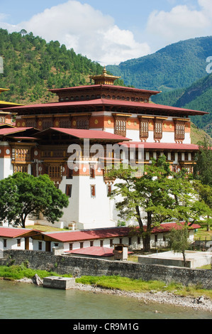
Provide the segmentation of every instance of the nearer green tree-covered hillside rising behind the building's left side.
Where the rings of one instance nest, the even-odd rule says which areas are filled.
[[[58,41],[47,43],[33,33],[8,33],[0,29],[0,56],[4,73],[0,87],[9,88],[1,99],[23,104],[48,102],[55,95],[48,89],[89,84],[89,75],[102,67],[88,58],[67,50]]]

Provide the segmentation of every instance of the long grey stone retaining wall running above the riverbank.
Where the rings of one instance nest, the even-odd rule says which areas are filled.
[[[54,255],[52,252],[26,250],[6,250],[0,265],[22,264],[26,262],[32,269],[55,271],[58,274],[79,276],[125,276],[144,281],[157,280],[189,284],[198,284],[203,289],[212,289],[212,270],[163,266],[159,264],[141,264],[135,262],[109,261],[83,257]]]

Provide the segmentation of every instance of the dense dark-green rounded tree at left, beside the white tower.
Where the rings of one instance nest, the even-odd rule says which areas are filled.
[[[52,223],[62,217],[68,206],[67,195],[57,189],[49,176],[15,173],[0,181],[0,219],[26,227],[28,215],[42,212]]]

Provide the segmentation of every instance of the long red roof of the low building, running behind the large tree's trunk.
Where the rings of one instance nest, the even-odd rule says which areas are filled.
[[[182,223],[183,224],[183,223]],[[191,230],[198,229],[199,225],[192,225]],[[164,233],[169,232],[172,228],[180,228],[177,223],[165,223],[160,225],[160,227],[154,227],[152,233]],[[94,239],[112,239],[115,237],[128,237],[131,232],[130,227],[111,227],[105,229],[96,230],[81,230],[81,231],[69,231],[69,232],[43,232],[43,235],[57,240],[59,242],[75,242],[84,240],[94,240]]]

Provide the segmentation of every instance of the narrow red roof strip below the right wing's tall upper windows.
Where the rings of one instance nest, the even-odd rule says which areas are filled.
[[[135,148],[142,147],[144,149],[174,149],[174,150],[197,150],[199,151],[199,146],[196,144],[176,144],[176,143],[147,143],[142,141],[126,141],[123,143],[118,143],[123,146],[132,146]]]

